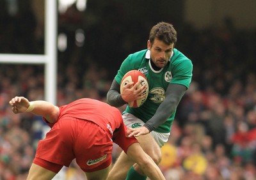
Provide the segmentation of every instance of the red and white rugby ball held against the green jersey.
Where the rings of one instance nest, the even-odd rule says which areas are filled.
[[[136,84],[136,82],[138,82],[138,80],[142,80],[141,84],[140,84],[140,86],[138,86],[138,88],[140,88],[141,86],[146,84],[147,89],[143,92],[143,94],[146,94],[146,96],[144,98],[141,98],[140,100],[128,102],[129,107],[133,107],[133,108],[140,107],[147,100],[148,80],[145,77],[145,75],[143,73],[141,73],[141,71],[138,71],[138,70],[128,71],[121,80],[121,84],[120,84],[120,92],[121,93],[122,93],[123,87],[125,85],[127,85],[129,82],[134,82],[134,84]]]

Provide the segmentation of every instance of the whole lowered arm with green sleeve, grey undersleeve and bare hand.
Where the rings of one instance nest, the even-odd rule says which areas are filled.
[[[147,123],[140,128],[129,128],[127,134],[129,136],[135,135],[136,137],[146,135],[160,124],[163,124],[177,109],[182,96],[186,93],[191,82],[192,71],[193,64],[189,59],[184,58],[182,61],[178,61],[173,70],[173,75],[175,76],[166,89],[165,100],[159,105],[154,116],[148,119]]]

